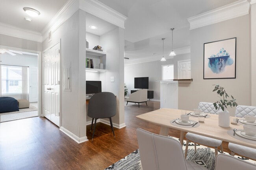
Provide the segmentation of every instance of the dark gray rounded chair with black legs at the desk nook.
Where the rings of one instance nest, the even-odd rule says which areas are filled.
[[[117,99],[113,93],[101,92],[101,93],[96,93],[91,97],[88,104],[87,115],[93,118],[91,121],[91,130],[93,127],[93,120],[95,119],[95,123],[93,127],[93,137],[95,133],[97,119],[109,118],[111,129],[115,138],[111,117],[115,116],[116,113],[117,113]],[[93,142],[93,137],[91,139],[92,142]]]

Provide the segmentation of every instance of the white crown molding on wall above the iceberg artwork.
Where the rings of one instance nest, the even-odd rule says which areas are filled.
[[[247,15],[249,14],[249,11],[250,3],[247,0],[239,0],[232,4],[228,4],[202,14],[192,16],[187,18],[187,20],[190,24],[191,30]]]

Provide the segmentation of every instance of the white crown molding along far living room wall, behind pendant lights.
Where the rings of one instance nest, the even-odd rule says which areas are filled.
[[[190,53],[190,46],[183,47],[183,48],[176,48],[176,49],[173,49],[173,51],[176,53],[176,56],[180,54]],[[163,55],[154,55],[150,57],[138,58],[133,60],[129,59],[129,60],[125,60],[124,65],[137,64],[142,62],[160,61],[162,57]],[[168,53],[168,56],[165,57],[166,60],[172,59],[172,58],[174,58],[174,56],[169,56],[169,53]]]

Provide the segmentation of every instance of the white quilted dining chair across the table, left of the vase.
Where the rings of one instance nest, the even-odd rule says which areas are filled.
[[[213,106],[213,103],[209,102],[200,102],[198,104],[198,109],[200,109],[204,113],[211,113],[211,114],[218,114],[219,110],[216,110]],[[205,146],[211,146],[215,148],[215,155],[218,154],[218,146],[221,147],[221,152],[223,153],[223,147],[222,147],[222,141],[218,139],[213,139],[210,137],[197,135],[195,133],[187,133],[186,134],[187,143],[186,143],[186,150],[185,150],[185,157],[187,157],[187,149],[189,141],[193,141],[195,143],[195,152],[197,152],[197,143],[205,145]]]

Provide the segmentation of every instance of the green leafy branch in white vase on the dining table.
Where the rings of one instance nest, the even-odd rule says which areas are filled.
[[[223,87],[221,87],[219,85],[215,85],[215,84],[213,86],[215,86],[213,91],[217,91],[217,94],[220,95],[220,97],[219,97],[220,100],[213,103],[213,106],[215,107],[216,110],[218,110],[219,108],[221,108],[221,110],[222,110],[219,112],[219,126],[229,127],[230,115],[226,109],[227,109],[227,106],[230,106],[231,108],[232,108],[232,106],[234,106],[234,107],[237,106],[236,99],[234,99],[234,97],[231,95],[232,99],[228,100],[229,96]],[[222,99],[222,97],[223,97],[223,99]]]

